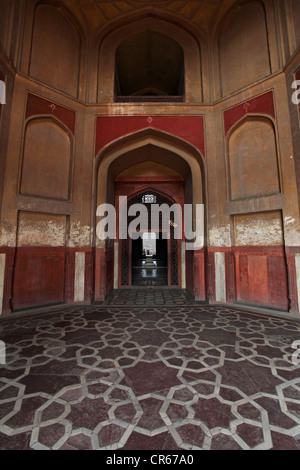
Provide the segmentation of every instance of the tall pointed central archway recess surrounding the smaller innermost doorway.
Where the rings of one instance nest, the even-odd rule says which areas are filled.
[[[117,288],[133,287],[133,250],[137,245],[126,237],[120,237],[120,198],[126,198],[127,211],[142,197],[152,195],[158,205],[179,206],[183,212],[186,205],[195,207],[203,204],[203,168],[201,155],[186,142],[163,136],[162,133],[141,132],[113,142],[98,155],[95,171],[97,207],[108,203],[116,213],[116,237],[99,240],[96,238],[95,256],[95,300],[104,300],[106,295]],[[122,199],[122,200],[123,200]],[[147,204],[146,204],[147,205]],[[96,213],[96,211],[95,211]],[[181,219],[181,223],[183,218]],[[168,220],[169,227],[173,221]],[[97,220],[95,226],[97,225]],[[178,224],[177,224],[178,225]],[[136,232],[140,231],[140,228]],[[151,231],[151,230],[150,230]],[[145,232],[145,230],[144,230]],[[162,240],[163,230],[158,240]],[[205,253],[204,247],[196,251],[186,251],[185,233],[176,243],[169,233],[167,242],[159,241],[159,249],[167,251],[166,281],[169,287],[186,288],[197,299],[205,300]],[[136,259],[134,260],[136,262]],[[201,279],[200,279],[200,277]]]

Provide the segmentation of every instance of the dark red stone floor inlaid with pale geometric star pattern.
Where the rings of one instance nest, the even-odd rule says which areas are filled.
[[[299,339],[170,290],[3,318],[0,449],[300,450]]]

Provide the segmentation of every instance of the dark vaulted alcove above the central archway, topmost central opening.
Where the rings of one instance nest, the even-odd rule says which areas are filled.
[[[98,102],[202,102],[200,47],[184,28],[150,15],[112,30],[99,43]]]

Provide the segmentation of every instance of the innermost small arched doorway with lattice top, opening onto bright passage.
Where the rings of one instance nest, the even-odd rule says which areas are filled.
[[[182,238],[178,239],[175,233],[176,214],[172,207],[179,207],[175,204],[151,188],[128,201],[128,213],[141,205],[144,220],[139,217],[134,223],[134,215],[127,219],[129,236],[119,241],[119,287],[181,287]],[[156,221],[152,217],[154,208],[162,209]]]

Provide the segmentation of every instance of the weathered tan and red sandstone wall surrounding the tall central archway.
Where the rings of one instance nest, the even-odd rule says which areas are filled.
[[[9,104],[0,109],[4,312],[75,297],[90,302],[112,289],[113,246],[94,248],[94,158],[122,138],[153,130],[202,157],[207,239],[203,250],[186,252],[187,288],[199,300],[298,312],[299,165],[294,165],[300,120],[289,112],[285,78],[289,73],[300,79],[296,2],[291,2],[295,24],[280,23],[287,28],[283,45],[276,44],[273,12],[264,11],[261,2],[229,12],[214,38],[214,57],[199,39],[201,74],[197,80],[188,74],[194,77],[190,90],[197,90],[191,95],[203,95],[207,104],[193,99],[178,106],[104,105],[102,84],[107,97],[113,83],[101,80],[97,96],[100,39],[87,70],[82,30],[72,15],[52,5],[35,9],[34,1],[27,2],[19,64],[18,28],[12,28],[18,2],[0,3],[0,79],[8,77],[9,90]],[[232,42],[233,31],[241,28],[246,42]],[[171,29],[174,35],[174,25]],[[178,37],[185,45],[186,35]],[[100,52],[102,58],[110,54]],[[278,57],[284,63],[293,54],[292,70],[282,72]],[[267,77],[270,72],[277,75]]]

